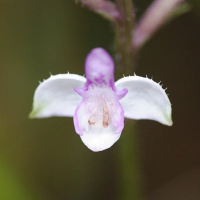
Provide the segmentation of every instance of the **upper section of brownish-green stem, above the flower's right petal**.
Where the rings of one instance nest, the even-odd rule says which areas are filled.
[[[117,20],[115,35],[116,77],[121,78],[122,74],[130,75],[134,71],[134,52],[131,43],[135,14],[131,0],[115,2],[121,16],[121,19]]]

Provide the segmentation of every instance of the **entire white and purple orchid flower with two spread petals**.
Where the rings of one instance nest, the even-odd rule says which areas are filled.
[[[30,117],[73,117],[76,133],[92,151],[108,149],[120,138],[124,117],[172,125],[165,90],[136,75],[114,82],[114,62],[104,49],[88,54],[85,75],[51,75],[40,83]]]

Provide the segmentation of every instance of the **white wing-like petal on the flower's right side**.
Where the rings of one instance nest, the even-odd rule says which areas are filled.
[[[172,125],[171,103],[158,83],[140,76],[129,76],[119,79],[115,86],[128,89],[127,95],[120,100],[125,117]]]

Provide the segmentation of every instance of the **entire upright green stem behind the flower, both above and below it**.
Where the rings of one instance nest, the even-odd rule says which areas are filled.
[[[115,61],[116,78],[132,75],[134,72],[134,50],[132,33],[134,29],[134,7],[132,0],[115,0],[121,19],[116,24]],[[140,165],[138,159],[136,123],[126,120],[119,142],[119,188],[120,200],[141,200]]]

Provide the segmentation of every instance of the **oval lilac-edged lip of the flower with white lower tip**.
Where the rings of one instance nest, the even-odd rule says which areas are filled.
[[[95,87],[85,91],[74,115],[76,132],[92,151],[111,147],[124,127],[124,111],[115,92]]]

